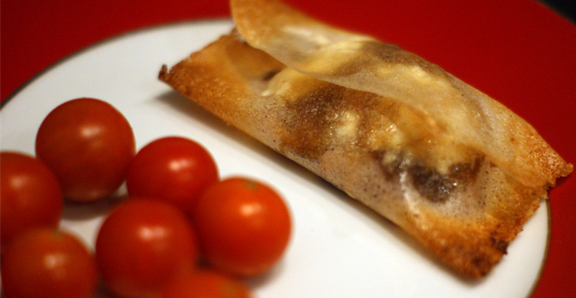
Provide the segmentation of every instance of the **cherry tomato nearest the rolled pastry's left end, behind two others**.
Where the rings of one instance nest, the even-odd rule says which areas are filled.
[[[126,179],[131,197],[158,197],[190,214],[200,191],[219,179],[210,153],[181,137],[156,139],[132,160]]]

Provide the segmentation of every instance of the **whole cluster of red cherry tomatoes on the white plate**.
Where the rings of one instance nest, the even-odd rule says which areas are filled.
[[[136,151],[112,105],[67,101],[44,119],[36,157],[2,152],[2,286],[6,298],[249,297],[240,277],[267,272],[287,248],[288,207],[265,183],[220,178],[200,144],[153,140]],[[122,183],[91,252],[59,228],[63,197],[91,202]]]

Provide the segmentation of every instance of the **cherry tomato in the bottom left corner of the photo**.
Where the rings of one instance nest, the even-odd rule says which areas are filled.
[[[8,298],[93,297],[97,271],[75,236],[34,228],[15,237],[2,258],[2,291]]]

